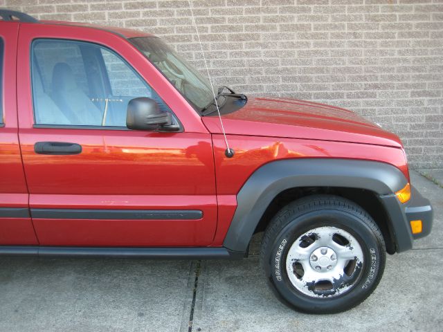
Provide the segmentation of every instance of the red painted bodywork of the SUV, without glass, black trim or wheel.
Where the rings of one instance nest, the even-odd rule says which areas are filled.
[[[66,22],[0,22],[4,42],[0,208],[200,210],[192,220],[0,218],[0,245],[221,247],[237,194],[256,169],[282,159],[375,160],[409,181],[397,136],[351,111],[284,98],[249,98],[222,116],[201,117],[156,67],[127,41],[132,30]],[[39,127],[33,117],[30,45],[71,39],[114,50],[165,100],[181,132]],[[82,154],[36,154],[38,141],[82,145]]]

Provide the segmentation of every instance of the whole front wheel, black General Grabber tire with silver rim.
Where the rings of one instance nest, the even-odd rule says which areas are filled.
[[[327,237],[325,232],[329,232]],[[341,239],[343,234],[350,236]],[[346,245],[346,239],[351,239],[355,248],[349,242]],[[331,246],[318,244],[325,241]],[[294,252],[303,250],[307,253],[300,257],[308,258],[292,259]],[[314,251],[316,255],[328,253],[326,258],[318,259]],[[331,252],[333,255],[328,256]],[[354,259],[346,257],[354,252]],[[320,260],[329,264],[327,259],[333,263],[332,259],[336,259],[336,265],[315,266]],[[332,195],[307,196],[282,208],[266,228],[260,252],[266,281],[278,299],[297,311],[316,314],[339,313],[363,302],[379,284],[385,262],[383,235],[371,216],[352,201]],[[346,265],[342,269],[343,264]],[[343,278],[331,277],[332,271],[338,271]],[[333,281],[318,281],[318,276],[323,276],[320,273]]]

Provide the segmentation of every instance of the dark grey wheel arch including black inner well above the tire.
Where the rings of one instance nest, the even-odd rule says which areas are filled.
[[[388,252],[394,253],[399,236],[408,235],[401,239],[403,248],[412,246],[412,236],[403,220],[392,220],[392,213],[379,197],[395,196],[406,183],[397,167],[377,161],[304,158],[268,163],[257,169],[237,194],[237,210],[224,247],[246,252],[254,232],[266,225],[275,210],[280,210],[281,202],[320,192],[338,194],[361,205],[381,228]],[[365,194],[370,199],[363,199]],[[278,198],[283,199],[276,202]],[[381,217],[386,220],[384,225]]]

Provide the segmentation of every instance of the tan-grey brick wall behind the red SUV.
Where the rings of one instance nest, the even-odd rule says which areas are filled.
[[[204,68],[187,0],[0,0],[163,37]],[[443,0],[192,0],[215,84],[356,111],[443,168]]]

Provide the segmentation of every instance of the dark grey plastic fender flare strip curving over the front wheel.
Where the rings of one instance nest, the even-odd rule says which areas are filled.
[[[223,246],[228,250],[246,252],[249,241],[271,201],[284,190],[294,187],[350,187],[375,192],[381,198],[397,247],[412,247],[412,233],[395,192],[408,183],[395,166],[370,160],[336,158],[284,159],[267,163],[248,178],[237,194],[237,209],[230,223]],[[385,198],[385,199],[383,199]],[[389,202],[389,206],[384,203]],[[397,201],[398,202],[398,201]],[[403,241],[404,243],[398,243]]]

